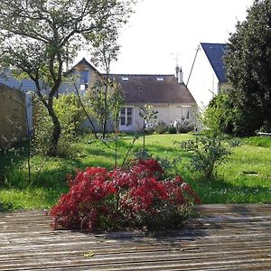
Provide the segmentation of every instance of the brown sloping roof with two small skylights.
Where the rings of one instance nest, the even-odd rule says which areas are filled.
[[[126,103],[195,103],[190,91],[174,75],[111,74],[122,86]]]

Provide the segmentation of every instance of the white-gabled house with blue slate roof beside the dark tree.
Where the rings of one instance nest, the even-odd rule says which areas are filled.
[[[211,98],[227,84],[223,62],[226,50],[225,43],[202,42],[198,47],[187,87],[201,110],[208,107]]]

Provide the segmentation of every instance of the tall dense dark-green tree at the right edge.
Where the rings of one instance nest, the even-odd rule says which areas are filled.
[[[271,129],[271,2],[256,0],[229,38],[225,64],[240,135]]]

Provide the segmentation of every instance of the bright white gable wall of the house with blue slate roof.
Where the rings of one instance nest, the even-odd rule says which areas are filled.
[[[218,94],[219,79],[202,48],[198,51],[187,87],[200,110],[208,107],[210,100]]]

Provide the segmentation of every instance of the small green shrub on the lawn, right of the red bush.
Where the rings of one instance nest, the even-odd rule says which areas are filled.
[[[201,177],[206,180],[214,177],[217,167],[230,154],[229,147],[218,137],[198,135],[195,138],[183,141],[181,148],[192,154],[192,170],[201,173]]]

